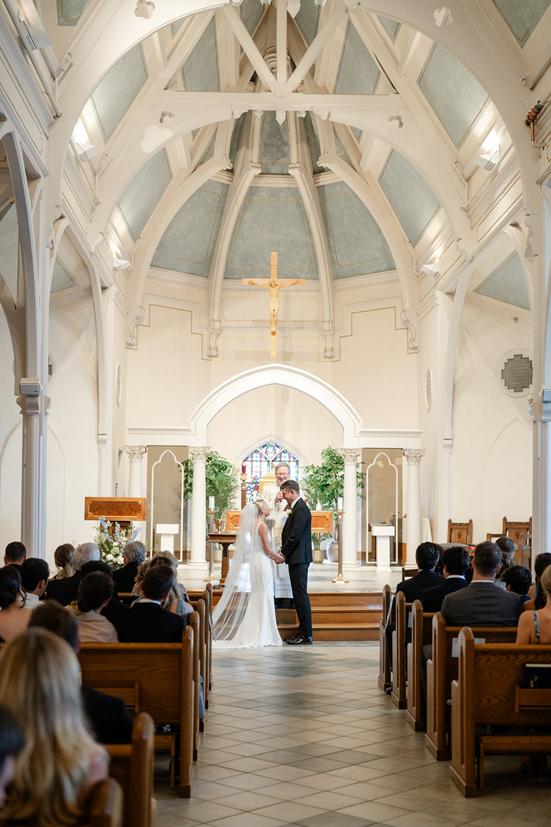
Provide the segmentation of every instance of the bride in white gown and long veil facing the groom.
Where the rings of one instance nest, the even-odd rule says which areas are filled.
[[[264,500],[245,505],[226,586],[212,612],[216,649],[281,646],[273,607],[273,572],[268,557],[285,558],[270,547]]]

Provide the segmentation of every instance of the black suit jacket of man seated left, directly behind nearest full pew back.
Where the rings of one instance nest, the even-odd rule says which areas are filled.
[[[114,618],[121,643],[182,643],[186,620],[158,603],[135,603]]]

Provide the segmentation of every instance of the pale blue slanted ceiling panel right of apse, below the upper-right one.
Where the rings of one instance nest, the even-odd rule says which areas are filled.
[[[413,246],[441,207],[423,176],[403,155],[391,150],[378,178],[398,221]]]

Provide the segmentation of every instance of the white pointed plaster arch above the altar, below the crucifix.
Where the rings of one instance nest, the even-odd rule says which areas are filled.
[[[189,418],[189,432],[193,435],[190,444],[207,444],[207,426],[211,419],[226,407],[233,399],[248,393],[249,390],[264,388],[267,385],[283,385],[302,391],[320,402],[342,425],[344,445],[356,447],[362,444],[359,433],[362,420],[358,412],[347,399],[327,382],[317,376],[286,365],[262,365],[252,370],[232,376],[207,394]]]

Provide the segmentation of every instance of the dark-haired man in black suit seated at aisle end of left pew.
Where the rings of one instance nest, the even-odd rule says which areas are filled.
[[[173,587],[170,566],[153,566],[141,582],[141,598],[113,625],[121,643],[182,643],[186,619],[163,609]]]

